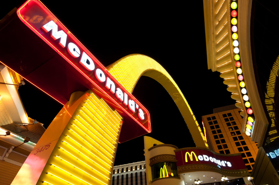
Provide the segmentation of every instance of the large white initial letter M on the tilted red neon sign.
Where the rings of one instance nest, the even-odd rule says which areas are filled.
[[[53,38],[54,40],[57,40],[57,39],[60,38],[59,44],[60,44],[60,46],[65,48],[66,40],[67,40],[67,34],[63,30],[60,30],[59,32],[57,32],[58,31],[58,26],[57,26],[57,24],[55,24],[54,21],[51,20],[50,22],[46,23],[45,25],[42,26],[42,29],[45,32],[51,31],[51,38]]]

